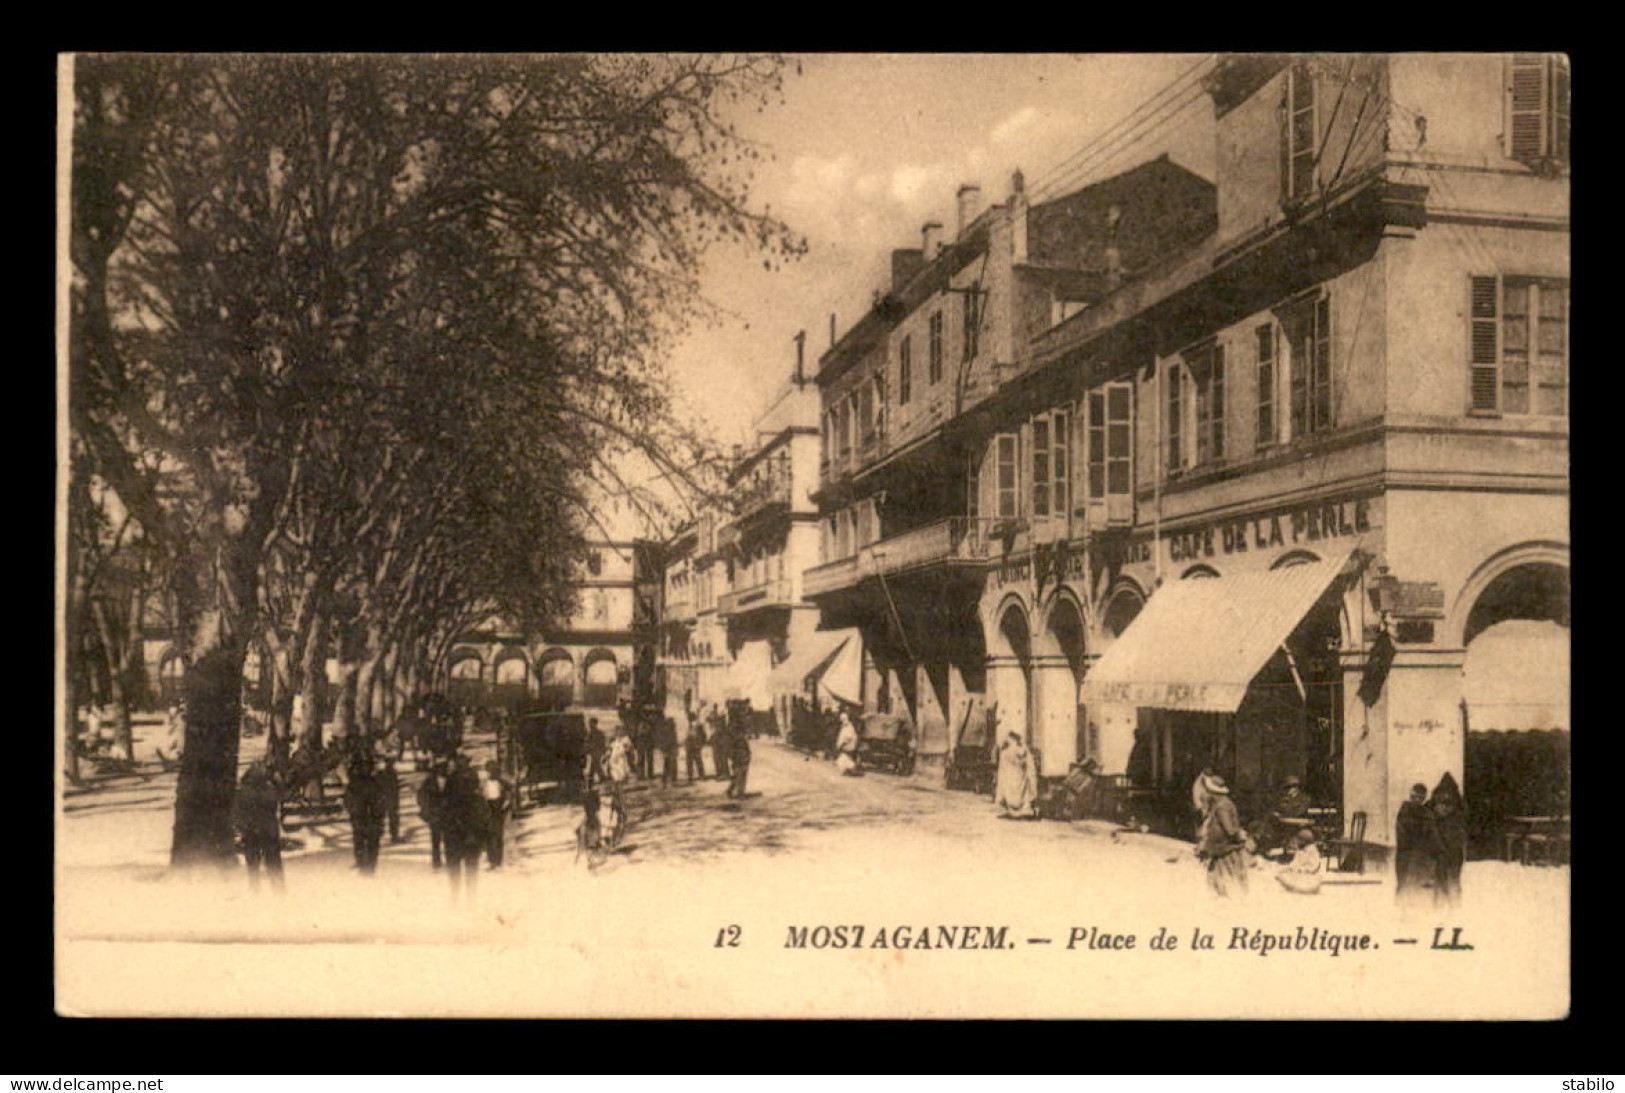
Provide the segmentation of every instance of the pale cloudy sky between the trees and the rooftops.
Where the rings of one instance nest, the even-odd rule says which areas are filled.
[[[1009,197],[1019,167],[1035,200],[1068,179],[1120,174],[1168,153],[1212,177],[1212,107],[1190,75],[1202,55],[816,54],[793,58],[783,104],[738,119],[772,154],[751,184],[808,240],[808,253],[767,271],[744,247],[718,247],[702,292],[720,322],[696,328],[668,367],[679,413],[708,422],[722,443],[748,443],[752,419],[795,369],[808,331],[808,370],[889,278],[890,252],[918,247],[920,227],[956,226],[962,184],[982,201]],[[800,75],[795,71],[800,62]],[[1175,81],[1146,123],[1124,119]],[[1168,110],[1160,109],[1167,106]],[[1155,123],[1164,119],[1164,123]],[[1102,138],[1084,158],[1086,145]],[[1072,159],[1069,159],[1072,158]]]

